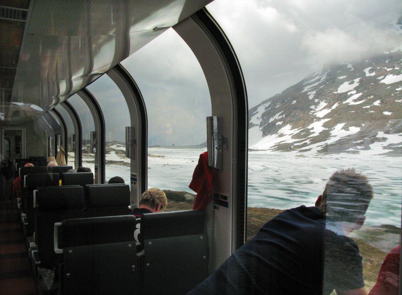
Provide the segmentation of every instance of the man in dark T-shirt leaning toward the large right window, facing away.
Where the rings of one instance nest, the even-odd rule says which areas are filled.
[[[270,220],[189,294],[367,294],[359,248],[346,236],[363,225],[372,195],[355,169],[336,171],[315,207]]]

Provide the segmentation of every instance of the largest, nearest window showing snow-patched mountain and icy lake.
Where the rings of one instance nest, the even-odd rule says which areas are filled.
[[[285,209],[314,206],[331,174],[353,167],[374,193],[348,236],[370,291],[400,241],[401,3],[216,0],[207,9],[247,85],[248,238]]]

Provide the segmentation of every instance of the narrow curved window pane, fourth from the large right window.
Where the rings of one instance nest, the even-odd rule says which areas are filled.
[[[91,151],[91,132],[95,131],[92,114],[78,94],[72,95],[68,102],[78,114],[82,128],[82,166],[88,167],[95,173],[95,155]]]

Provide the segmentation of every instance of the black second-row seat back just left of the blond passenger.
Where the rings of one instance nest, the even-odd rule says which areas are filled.
[[[128,184],[86,185],[86,216],[116,216],[130,214],[130,186]]]

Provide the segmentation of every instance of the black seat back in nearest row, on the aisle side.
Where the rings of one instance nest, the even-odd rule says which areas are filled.
[[[64,262],[61,293],[138,293],[134,228],[132,215],[70,219],[56,224],[55,252],[63,253]]]

